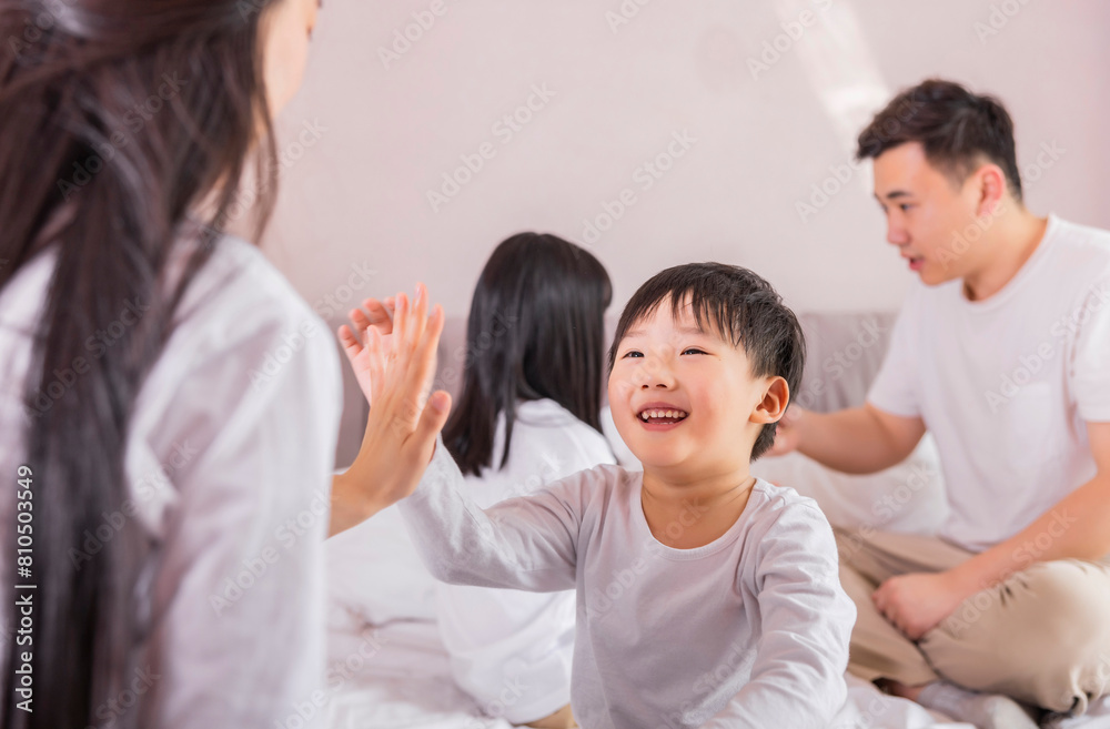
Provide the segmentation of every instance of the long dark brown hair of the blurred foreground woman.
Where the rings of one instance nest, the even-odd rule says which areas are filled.
[[[0,0],[0,290],[40,251],[57,254],[24,403],[38,700],[33,713],[13,706],[17,657],[29,648],[11,639],[4,727],[101,726],[104,702],[150,660],[144,603],[158,545],[127,519],[91,559],[72,556],[129,497],[137,396],[260,139],[255,234],[272,209],[260,23],[276,1]],[[206,213],[191,216],[198,210]],[[199,244],[171,282],[183,237]],[[87,348],[98,332],[114,336],[128,307],[143,313],[112,346]],[[16,535],[14,516],[10,526]],[[115,725],[141,721],[130,709]]]

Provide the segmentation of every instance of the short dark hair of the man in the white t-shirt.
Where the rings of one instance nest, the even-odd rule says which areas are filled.
[[[920,142],[929,163],[962,183],[982,161],[1006,173],[1021,202],[1021,175],[1013,148],[1013,121],[993,98],[942,79],[929,79],[895,97],[859,133],[857,160],[877,158],[907,142]]]

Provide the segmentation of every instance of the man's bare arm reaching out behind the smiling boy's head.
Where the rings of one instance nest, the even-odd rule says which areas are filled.
[[[870,403],[837,413],[790,409],[771,455],[797,449],[848,474],[870,474],[906,459],[925,435],[920,417],[901,417]]]

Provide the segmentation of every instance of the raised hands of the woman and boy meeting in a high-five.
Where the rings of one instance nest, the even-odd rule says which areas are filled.
[[[380,308],[379,308],[380,307]],[[408,496],[420,483],[447,422],[451,396],[428,396],[435,376],[435,354],[443,332],[443,310],[427,314],[427,291],[416,286],[410,304],[397,294],[392,317],[384,304],[367,301],[371,316],[355,337],[349,327],[340,340],[363,393],[371,402],[366,434],[354,464],[332,483],[330,535],[349,529]],[[381,317],[390,320],[389,331]]]

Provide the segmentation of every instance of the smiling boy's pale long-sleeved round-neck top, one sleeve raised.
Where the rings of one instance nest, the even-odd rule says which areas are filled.
[[[577,590],[582,726],[825,727],[846,697],[856,609],[816,504],[757,480],[724,536],[673,549],[648,528],[642,484],[598,466],[483,512],[440,443],[400,506],[441,579]]]

